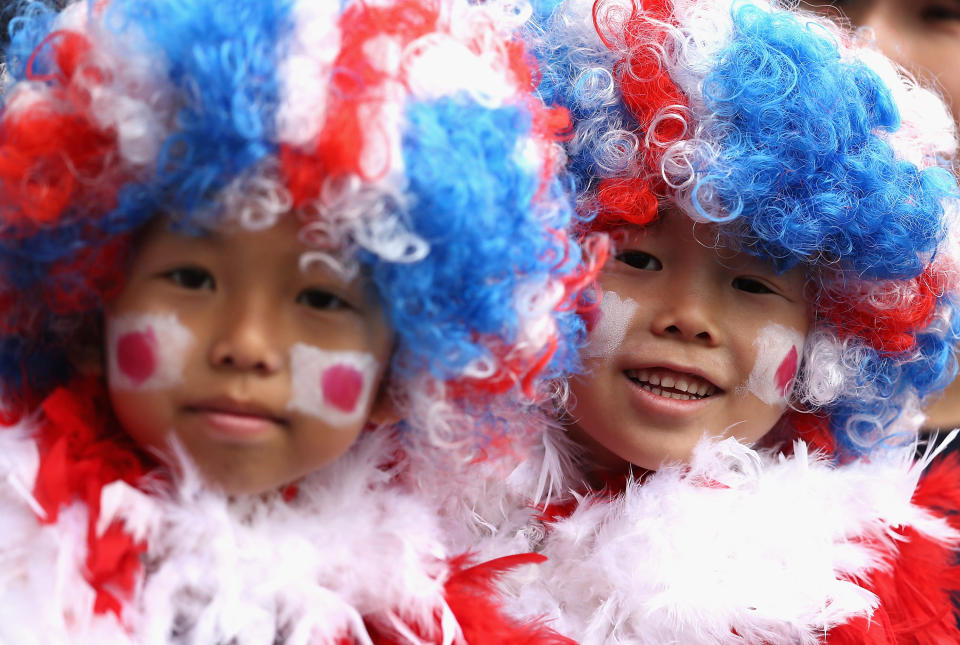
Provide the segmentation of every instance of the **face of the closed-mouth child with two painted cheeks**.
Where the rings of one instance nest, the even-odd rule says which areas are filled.
[[[392,334],[360,279],[285,217],[265,231],[146,232],[106,308],[107,382],[147,448],[174,436],[227,492],[267,490],[343,454],[378,397]]]

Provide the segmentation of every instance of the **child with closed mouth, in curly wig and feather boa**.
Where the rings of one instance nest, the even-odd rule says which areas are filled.
[[[419,0],[23,5],[0,640],[564,642],[491,592],[541,558],[470,568],[403,483],[409,444],[364,432],[576,363],[566,117],[515,26]]]

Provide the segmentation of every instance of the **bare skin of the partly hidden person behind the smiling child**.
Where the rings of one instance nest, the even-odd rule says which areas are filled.
[[[872,29],[887,56],[940,89],[960,122],[960,0],[816,0],[801,6]],[[960,380],[925,412],[931,430],[960,425]]]

